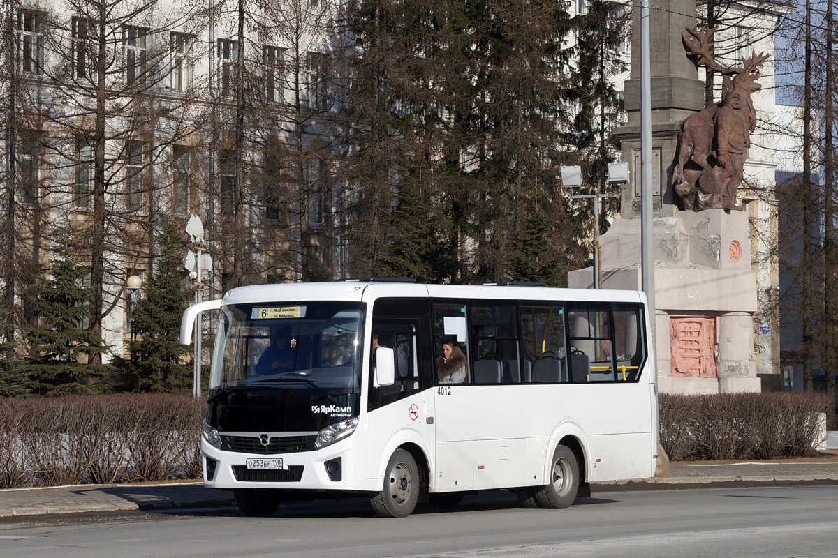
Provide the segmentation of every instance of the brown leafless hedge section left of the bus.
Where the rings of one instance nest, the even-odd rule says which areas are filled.
[[[0,399],[0,488],[197,479],[205,408],[163,394]]]

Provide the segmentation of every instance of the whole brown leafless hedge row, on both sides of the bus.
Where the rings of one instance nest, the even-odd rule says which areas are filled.
[[[660,396],[673,460],[815,453],[826,398],[767,393]],[[174,395],[0,399],[0,488],[198,479],[204,401]]]

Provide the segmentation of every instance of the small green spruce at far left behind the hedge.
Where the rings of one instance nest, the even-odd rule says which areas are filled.
[[[66,254],[64,254],[66,255]],[[29,357],[20,364],[32,392],[68,395],[101,392],[96,378],[104,367],[90,364],[107,347],[91,325],[91,289],[82,286],[84,272],[65,257],[54,259],[49,278],[36,280],[35,326],[25,330]]]

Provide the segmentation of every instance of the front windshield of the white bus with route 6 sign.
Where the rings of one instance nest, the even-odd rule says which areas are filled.
[[[227,387],[306,387],[334,394],[360,386],[364,305],[269,302],[221,308],[209,396]]]

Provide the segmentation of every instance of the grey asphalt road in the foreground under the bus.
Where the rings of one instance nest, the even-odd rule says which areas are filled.
[[[521,509],[505,492],[375,518],[365,499],[0,523],[0,556],[838,556],[838,486],[594,494]]]

